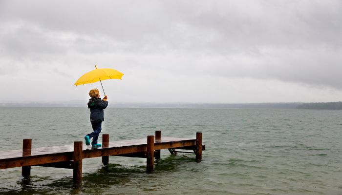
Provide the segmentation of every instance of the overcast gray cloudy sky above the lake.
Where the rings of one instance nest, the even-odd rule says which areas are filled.
[[[342,97],[341,0],[0,0],[1,102],[317,102]],[[101,90],[102,92],[102,90]]]

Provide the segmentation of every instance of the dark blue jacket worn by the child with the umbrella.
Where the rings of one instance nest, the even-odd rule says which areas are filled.
[[[90,108],[90,122],[102,122],[105,121],[103,115],[103,109],[107,108],[108,101],[103,101],[101,98],[90,98],[88,102],[88,108]]]

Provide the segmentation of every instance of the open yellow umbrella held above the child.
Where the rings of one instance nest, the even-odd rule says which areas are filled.
[[[84,85],[87,83],[94,83],[97,81],[101,80],[106,80],[106,79],[121,79],[121,77],[124,74],[120,73],[117,70],[111,69],[111,68],[97,68],[95,65],[95,70],[92,70],[90,72],[85,73],[84,75],[82,75],[82,77],[80,77],[74,85]],[[101,82],[101,86],[102,86],[102,82]],[[103,89],[102,86],[102,90],[103,93],[106,95],[105,90]]]

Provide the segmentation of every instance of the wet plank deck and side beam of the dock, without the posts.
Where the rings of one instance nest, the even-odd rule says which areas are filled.
[[[154,141],[154,150],[187,146],[196,146],[196,139],[161,137],[160,140]],[[82,159],[140,152],[147,152],[146,138],[112,141],[108,143],[108,146],[106,144],[99,148],[91,148],[83,144]],[[0,151],[0,169],[70,161],[73,160],[73,155],[73,145],[33,148],[30,151],[26,149]]]

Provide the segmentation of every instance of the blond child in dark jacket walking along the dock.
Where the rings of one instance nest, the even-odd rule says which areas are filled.
[[[97,143],[97,138],[101,133],[101,123],[105,120],[103,109],[108,106],[107,96],[101,100],[98,89],[90,90],[89,96],[88,108],[90,108],[90,122],[94,132],[85,136],[85,144],[90,145],[90,138],[93,138],[91,145],[101,146],[100,143]]]

